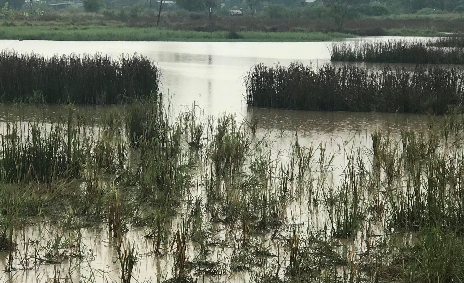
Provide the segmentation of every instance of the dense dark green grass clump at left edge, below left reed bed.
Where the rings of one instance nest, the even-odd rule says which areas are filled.
[[[13,125],[17,124],[13,121]],[[2,182],[34,180],[50,183],[56,179],[80,177],[80,164],[85,160],[84,148],[76,140],[75,124],[64,120],[50,123],[21,121],[19,124],[20,128],[13,131],[24,138],[0,140],[3,148],[3,158],[0,159]],[[63,129],[71,134],[64,135]]]

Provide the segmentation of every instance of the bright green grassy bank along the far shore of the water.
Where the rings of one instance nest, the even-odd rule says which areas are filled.
[[[338,32],[196,32],[117,26],[5,26],[0,39],[71,41],[328,41],[353,37]]]

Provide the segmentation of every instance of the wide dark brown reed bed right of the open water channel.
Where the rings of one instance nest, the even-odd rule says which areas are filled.
[[[258,64],[245,76],[248,106],[313,111],[378,111],[445,114],[464,99],[464,73],[417,66],[379,71]]]

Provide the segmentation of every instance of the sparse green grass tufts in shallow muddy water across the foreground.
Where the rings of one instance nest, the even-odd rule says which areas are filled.
[[[464,277],[463,116],[319,141],[197,108],[2,121],[5,281]]]

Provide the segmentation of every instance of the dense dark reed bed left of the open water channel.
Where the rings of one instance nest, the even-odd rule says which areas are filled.
[[[38,54],[0,53],[3,102],[127,103],[157,94],[158,68],[145,57],[101,54],[50,58]]]

